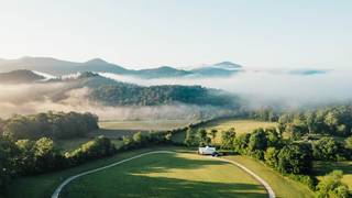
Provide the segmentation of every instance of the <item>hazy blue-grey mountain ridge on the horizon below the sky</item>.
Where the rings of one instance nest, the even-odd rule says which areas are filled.
[[[173,77],[217,77],[229,76],[241,72],[242,66],[231,62],[221,62],[196,69],[178,69],[172,66],[162,66],[150,69],[127,69],[120,65],[108,63],[101,58],[77,63],[55,59],[52,57],[23,57],[19,59],[0,59],[0,73],[28,69],[46,73],[54,76],[64,76],[75,73],[95,72],[119,75],[138,76],[141,78],[173,78]]]

